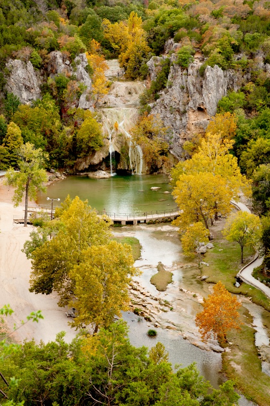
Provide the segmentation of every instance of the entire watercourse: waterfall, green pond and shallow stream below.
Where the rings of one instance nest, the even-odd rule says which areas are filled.
[[[118,77],[119,64],[115,60],[108,61],[108,64],[106,76],[115,79]],[[122,73],[120,77],[121,75]],[[114,174],[115,170],[128,170],[136,175],[115,175],[109,179],[70,176],[52,183],[46,195],[39,194],[38,204],[46,204],[47,196],[63,201],[69,194],[72,198],[78,195],[83,200],[88,199],[92,208],[98,211],[105,209],[107,213],[137,214],[175,209],[176,205],[171,194],[164,193],[170,191],[165,175],[139,175],[144,172],[143,156],[140,148],[131,142],[129,130],[135,123],[139,94],[143,88],[144,84],[141,82],[125,82],[120,78],[112,84],[100,106],[103,130],[107,135],[111,174]],[[126,166],[121,160],[115,164],[115,153],[120,155],[125,145],[128,149]],[[160,189],[152,191],[150,189],[152,186]],[[222,349],[214,341],[210,346],[204,347],[195,325],[195,316],[202,310],[201,302],[203,297],[209,294],[211,285],[203,283],[200,277],[198,278],[198,265],[196,263],[190,265],[183,257],[177,228],[168,224],[136,225],[113,228],[113,233],[134,236],[141,244],[141,258],[135,262],[141,275],[134,278],[134,283],[138,287],[136,290],[143,292],[137,294],[136,290],[131,290],[131,298],[136,301],[148,297],[147,300],[151,301],[149,297],[155,296],[157,300],[151,301],[153,314],[158,320],[157,337],[150,338],[147,335],[147,330],[152,327],[151,322],[138,318],[132,312],[123,313],[123,318],[130,328],[131,344],[150,348],[158,341],[162,342],[169,352],[172,365],[187,366],[196,362],[200,373],[214,388],[217,388],[225,379],[220,374]],[[157,273],[159,261],[166,270],[173,273],[173,282],[165,292],[157,291],[150,283],[151,276]],[[155,306],[158,305],[158,300],[168,300],[172,303],[172,310],[158,309],[159,306]],[[252,406],[254,403],[242,396],[239,404]]]

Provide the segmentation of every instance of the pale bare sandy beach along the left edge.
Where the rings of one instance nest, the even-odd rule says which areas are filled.
[[[10,304],[14,314],[7,319],[10,330],[14,323],[33,311],[41,310],[44,320],[38,323],[28,322],[13,333],[14,339],[43,340],[45,343],[55,340],[60,331],[66,331],[65,340],[70,342],[76,332],[68,325],[65,309],[57,306],[57,295],[43,295],[29,292],[31,261],[21,252],[24,242],[29,239],[32,226],[14,224],[14,215],[24,215],[23,206],[13,207],[13,189],[3,185],[0,178],[0,307]],[[31,204],[32,205],[32,204]]]

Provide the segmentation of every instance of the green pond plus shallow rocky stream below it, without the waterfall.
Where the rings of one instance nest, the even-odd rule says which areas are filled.
[[[152,186],[158,186],[159,191],[152,191]],[[143,190],[143,192],[141,191]],[[170,194],[168,178],[164,175],[134,175],[115,176],[110,179],[89,179],[87,177],[68,177],[49,186],[46,195],[38,196],[38,203],[46,203],[46,196],[51,198],[65,199],[67,194],[71,197],[78,195],[81,199],[88,199],[89,204],[101,211],[127,213],[151,210],[167,210],[174,208],[175,203]],[[137,282],[150,294],[161,299],[174,302],[174,311],[164,313],[164,323],[172,322],[180,326],[181,331],[158,328],[155,338],[147,336],[150,323],[131,312],[123,314],[130,327],[130,341],[134,346],[152,347],[158,341],[162,342],[169,352],[170,362],[187,366],[196,362],[200,373],[217,388],[224,377],[219,373],[221,370],[221,354],[214,351],[205,351],[184,339],[184,334],[194,337],[198,341],[198,331],[195,326],[195,316],[202,309],[198,297],[209,294],[209,285],[201,282],[198,277],[198,266],[188,264],[181,254],[177,228],[169,224],[137,225],[113,228],[116,235],[135,236],[142,246],[141,258],[135,262],[135,266],[141,270],[141,276]],[[161,261],[166,269],[173,273],[173,283],[168,286],[166,292],[158,292],[151,285],[150,277],[157,272],[158,262]],[[191,292],[191,294],[179,291],[179,287]],[[189,293],[190,293],[189,292]],[[194,297],[196,292],[198,297]],[[256,305],[254,305],[256,306]],[[259,307],[257,307],[259,308]],[[183,334],[184,333],[184,334]],[[239,401],[241,406],[251,406],[253,403],[242,397]]]

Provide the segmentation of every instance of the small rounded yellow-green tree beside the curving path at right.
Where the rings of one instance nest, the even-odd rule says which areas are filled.
[[[241,211],[227,219],[222,233],[226,240],[236,241],[240,245],[241,263],[243,263],[244,247],[258,248],[260,244],[261,222],[255,214]]]

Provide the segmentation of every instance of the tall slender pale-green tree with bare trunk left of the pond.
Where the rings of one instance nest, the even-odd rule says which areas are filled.
[[[27,227],[28,199],[35,199],[37,190],[45,192],[43,185],[47,181],[46,171],[43,169],[47,160],[47,155],[39,149],[35,149],[30,143],[22,145],[18,150],[19,172],[14,169],[8,170],[6,182],[15,187],[14,206],[19,206],[25,193],[24,227]]]

